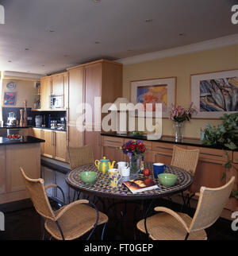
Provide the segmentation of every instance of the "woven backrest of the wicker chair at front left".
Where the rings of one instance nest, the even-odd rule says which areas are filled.
[[[23,176],[25,187],[29,192],[29,196],[33,201],[33,205],[36,211],[45,218],[55,219],[54,212],[52,207],[49,204],[48,196],[46,195],[44,189],[44,180],[43,179],[30,179],[25,175],[25,172],[20,168],[21,174]]]

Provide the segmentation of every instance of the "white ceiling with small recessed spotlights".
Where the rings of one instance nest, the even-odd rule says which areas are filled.
[[[6,16],[6,24],[0,25],[0,70],[15,72],[50,74],[99,58],[118,60],[238,33],[238,25],[231,23],[235,0],[0,0],[0,4]]]

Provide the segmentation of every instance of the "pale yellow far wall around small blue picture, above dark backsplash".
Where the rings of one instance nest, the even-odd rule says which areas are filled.
[[[6,84],[9,82],[16,83],[15,92],[17,92],[17,101],[14,106],[3,105],[4,91],[10,91],[7,89]],[[24,107],[23,101],[27,101],[27,107],[33,107],[35,99],[35,81],[32,80],[14,80],[14,79],[3,79],[2,81],[2,107]]]

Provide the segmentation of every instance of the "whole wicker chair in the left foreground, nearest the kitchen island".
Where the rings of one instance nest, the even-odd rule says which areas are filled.
[[[53,238],[59,240],[77,239],[90,231],[87,237],[88,240],[96,227],[104,224],[102,229],[103,239],[108,217],[98,211],[94,204],[88,200],[77,200],[57,211],[53,211],[46,195],[46,188],[55,184],[44,187],[43,179],[30,179],[25,175],[23,169],[21,169],[21,174],[36,211],[44,219],[44,228]]]

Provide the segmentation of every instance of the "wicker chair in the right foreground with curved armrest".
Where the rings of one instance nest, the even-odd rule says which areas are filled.
[[[205,228],[213,225],[221,215],[232,192],[235,176],[221,188],[201,187],[198,207],[193,219],[169,208],[156,207],[162,211],[142,219],[137,228],[153,240],[203,240],[207,239]]]

